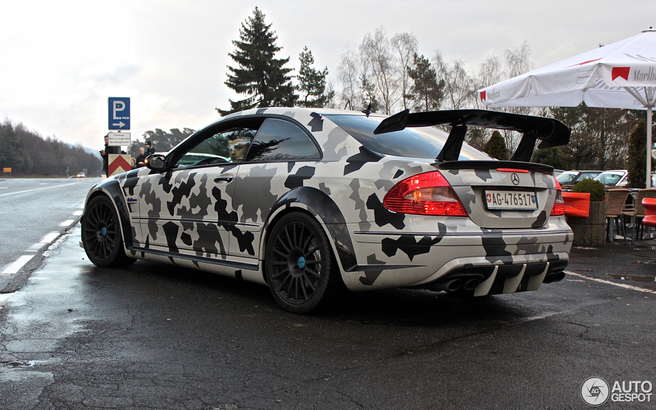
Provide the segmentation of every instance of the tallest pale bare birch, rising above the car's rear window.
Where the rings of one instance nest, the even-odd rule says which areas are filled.
[[[367,33],[360,45],[361,59],[365,63],[365,77],[375,85],[376,94],[384,113],[392,113],[392,107],[399,99],[396,58],[390,52],[390,41],[385,36],[385,28]]]

